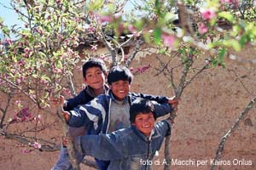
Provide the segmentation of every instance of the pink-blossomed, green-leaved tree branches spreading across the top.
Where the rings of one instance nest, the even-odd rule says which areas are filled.
[[[126,3],[125,0],[14,0],[11,3],[20,14],[24,26],[9,28],[0,20],[0,28],[5,37],[0,45],[8,44],[7,50],[0,51],[1,90],[9,96],[14,92],[25,94],[39,111],[37,116],[31,116],[27,108],[18,104],[19,116],[10,120],[8,125],[32,120],[37,124],[41,112],[49,107],[50,97],[69,88],[67,82],[72,82],[73,69],[80,60],[78,48],[81,42],[89,41],[91,47],[85,55],[93,54],[97,49],[96,42],[102,42],[108,48],[112,65],[129,66],[142,43],[153,45],[160,54],[171,57],[177,51],[182,63],[182,76],[177,83],[171,79],[177,98],[181,97],[183,89],[202,71],[218,65],[224,66],[224,57],[243,60],[231,54],[231,48],[239,51],[247,43],[255,46],[255,22],[251,22],[256,18],[253,1],[131,1],[133,9],[129,14],[125,13]],[[11,33],[17,36],[15,41]],[[131,36],[120,42],[119,38],[123,34]],[[123,47],[131,41],[136,44],[131,54],[125,56]],[[191,66],[199,54],[207,55],[206,65],[191,76]],[[102,58],[104,56],[102,54]],[[255,60],[248,62],[255,63]],[[136,71],[143,72],[148,66]],[[172,76],[172,71],[167,74]],[[70,90],[74,91],[73,88]],[[7,113],[7,110],[2,111],[3,115]],[[175,114],[172,115],[174,117]],[[3,121],[4,116],[1,127],[4,127]],[[166,139],[166,146],[168,142],[169,139]],[[32,145],[34,148],[42,148],[37,140]],[[168,150],[166,147],[167,158]],[[79,169],[75,164],[74,161],[73,166]]]

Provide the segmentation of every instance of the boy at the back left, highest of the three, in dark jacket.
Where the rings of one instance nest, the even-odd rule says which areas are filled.
[[[64,97],[61,96],[60,103],[63,104],[64,111],[71,111],[77,105],[86,104],[91,99],[94,99],[97,95],[105,94],[108,91],[108,86],[105,84],[107,67],[102,59],[88,59],[84,63],[82,70],[86,87],[83,91],[79,93],[79,95],[77,95],[73,99],[67,99],[64,101]],[[57,101],[54,102],[56,104]],[[72,137],[84,135],[85,127],[69,127],[68,131]],[[65,140],[63,141],[63,143],[65,143]],[[67,170],[71,168],[72,165],[68,159],[67,147],[63,144],[61,146],[59,160],[57,161],[55,166],[52,167],[52,170]]]

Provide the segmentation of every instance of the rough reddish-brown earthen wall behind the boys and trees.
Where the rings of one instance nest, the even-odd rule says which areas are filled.
[[[239,55],[244,59],[256,59],[256,49],[247,48]],[[160,59],[168,61],[169,58],[160,56]],[[155,76],[157,75],[155,68],[160,64],[154,55],[135,60],[132,66],[137,68],[149,64],[150,68],[147,71],[135,75],[131,91],[172,96],[173,91],[166,77],[162,74]],[[197,64],[198,67],[200,65],[203,63]],[[76,87],[79,91],[81,80],[76,82]],[[255,97],[255,92],[256,65],[227,59],[225,69],[216,67],[196,77],[183,92],[177,111],[178,116],[172,127],[172,169],[209,170],[220,138],[245,110],[253,96]],[[1,102],[3,103],[3,100]],[[30,105],[29,102],[27,105]],[[218,161],[218,170],[256,169],[255,113],[256,107],[253,107],[236,132],[228,139],[223,156]],[[54,116],[44,117],[42,123],[49,123],[49,126],[38,135],[60,144],[60,123]],[[23,153],[24,149],[26,146],[20,146],[14,140],[4,139],[1,136],[0,169],[50,169],[59,154],[59,151],[41,152],[39,150]],[[161,164],[164,162],[162,148],[160,156],[155,156],[152,162],[153,169],[163,169]],[[82,165],[81,169],[92,168]]]

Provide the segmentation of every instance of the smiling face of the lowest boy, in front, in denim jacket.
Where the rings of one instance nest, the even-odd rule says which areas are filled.
[[[137,129],[145,136],[149,136],[152,129],[154,128],[154,122],[154,115],[152,112],[149,112],[147,114],[139,113],[135,117],[135,122],[131,124],[135,125]]]

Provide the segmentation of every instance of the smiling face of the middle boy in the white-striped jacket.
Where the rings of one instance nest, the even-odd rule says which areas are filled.
[[[130,91],[130,84],[129,81],[119,80],[117,82],[112,82],[111,85],[109,85],[109,88],[112,90],[116,99],[123,100]]]

